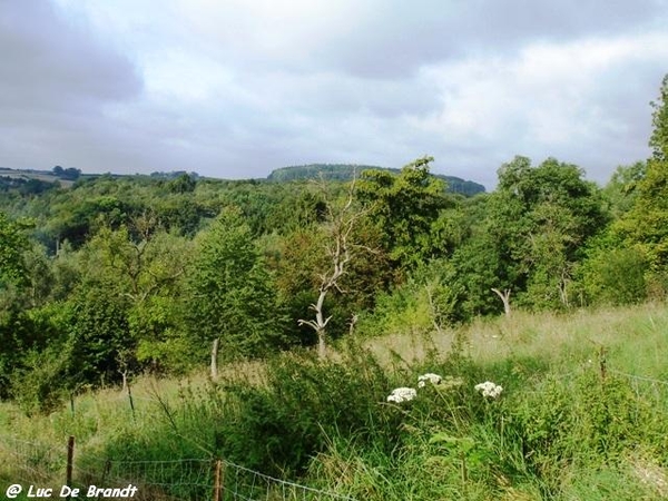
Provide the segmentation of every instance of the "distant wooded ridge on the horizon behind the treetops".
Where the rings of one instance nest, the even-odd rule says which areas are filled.
[[[267,179],[279,183],[295,179],[317,179],[322,175],[324,179],[350,180],[353,178],[353,173],[358,175],[363,170],[369,169],[389,170],[395,174],[401,171],[401,169],[373,165],[310,164],[274,169],[267,176]],[[433,174],[433,176],[445,180],[448,183],[448,191],[450,193],[459,193],[466,196],[484,193],[484,186],[471,180],[464,180],[455,176],[444,176],[442,174]]]

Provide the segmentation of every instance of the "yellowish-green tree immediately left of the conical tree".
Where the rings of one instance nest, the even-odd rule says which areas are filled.
[[[127,305],[131,343],[119,353],[126,363],[183,370],[191,358],[179,299],[190,247],[185,238],[164,232],[151,213],[132,217],[119,229],[105,227],[87,244],[89,287],[104,288]]]

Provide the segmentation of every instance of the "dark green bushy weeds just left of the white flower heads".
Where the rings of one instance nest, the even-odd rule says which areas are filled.
[[[225,386],[235,413],[220,422],[219,452],[249,468],[292,475],[334,436],[390,452],[399,430],[396,414],[382,404],[389,386],[384,370],[360,346],[338,361],[279,356],[263,386]]]

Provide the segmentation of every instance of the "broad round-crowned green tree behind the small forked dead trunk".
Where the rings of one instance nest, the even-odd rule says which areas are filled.
[[[598,188],[574,165],[549,158],[532,167],[515,157],[499,169],[485,205],[481,230],[455,252],[466,281],[479,294],[494,292],[507,312],[511,294],[532,307],[567,307],[580,248],[606,225]]]

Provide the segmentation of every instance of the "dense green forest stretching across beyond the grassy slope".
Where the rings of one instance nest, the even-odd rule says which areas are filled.
[[[216,380],[253,361],[283,360],[287,381],[276,356],[308,354],[304,375],[346,341],[662,302],[668,76],[651,117],[651,157],[605,186],[522,156],[474,195],[449,191],[431,157],[352,179],[12,181],[0,191],[0,399],[48,415],[140,375],[207,367]],[[304,458],[272,454],[246,464],[304,473]]]

